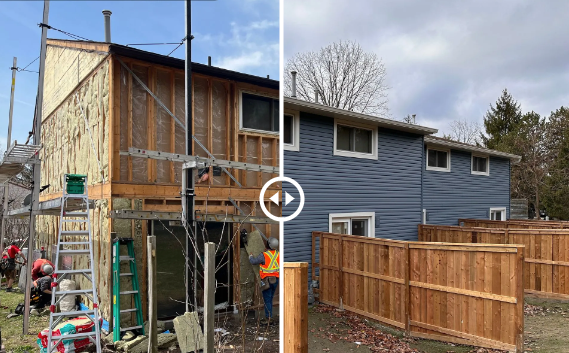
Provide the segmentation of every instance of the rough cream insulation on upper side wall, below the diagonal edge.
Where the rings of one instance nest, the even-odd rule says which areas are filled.
[[[108,176],[108,88],[108,62],[105,62],[77,90],[91,135],[75,94],[42,123],[41,180],[42,185],[50,185],[42,195],[61,193],[66,173],[87,174],[89,184],[101,183],[99,163],[105,178]]]

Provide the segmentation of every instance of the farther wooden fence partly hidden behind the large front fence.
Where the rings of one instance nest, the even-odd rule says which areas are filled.
[[[569,299],[569,229],[498,229],[419,225],[419,241],[525,246],[526,293]]]

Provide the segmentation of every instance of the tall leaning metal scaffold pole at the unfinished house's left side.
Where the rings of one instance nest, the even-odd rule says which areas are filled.
[[[47,47],[47,24],[49,18],[49,0],[43,3],[43,21],[41,25],[41,49],[40,49],[40,74],[38,78],[38,99],[36,101],[36,114],[34,117],[34,144],[39,145],[41,139],[41,120],[43,110],[43,82],[45,76],[45,52]],[[32,284],[32,263],[34,259],[34,240],[36,232],[36,214],[39,210],[41,166],[39,164],[39,154],[34,159],[34,183],[32,191],[31,213],[30,213],[30,235],[28,238],[28,265],[26,267],[26,294],[24,297],[24,335],[28,334],[30,320],[30,292]]]

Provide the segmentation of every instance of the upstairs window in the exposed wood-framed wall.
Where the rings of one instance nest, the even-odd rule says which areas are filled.
[[[264,134],[279,134],[279,99],[252,92],[239,92],[239,128]]]

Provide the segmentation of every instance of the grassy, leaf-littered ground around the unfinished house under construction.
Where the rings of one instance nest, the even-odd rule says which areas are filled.
[[[16,288],[16,286],[14,286]],[[24,295],[19,291],[6,293],[0,290],[0,328],[2,329],[2,344],[6,352],[26,353],[38,352],[36,343],[38,333],[49,326],[49,316],[30,316],[29,335],[22,334],[23,316],[8,319],[6,316],[14,311],[18,303],[23,303]],[[4,308],[4,307],[7,307]],[[279,326],[259,325],[255,315],[250,312],[242,325],[241,315],[220,315],[215,320],[216,343],[218,352],[263,352],[279,351]],[[177,347],[176,347],[177,348]],[[112,346],[106,347],[105,352],[114,352]],[[164,351],[180,352],[179,349]]]

